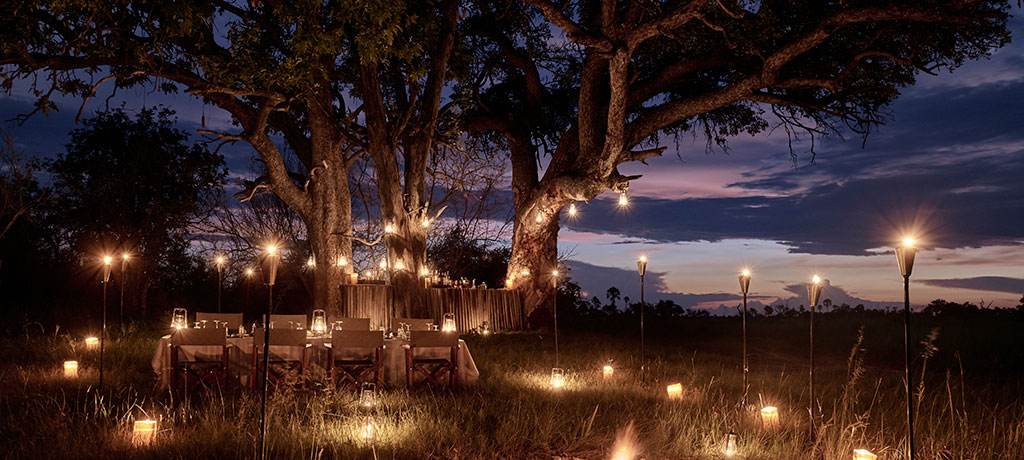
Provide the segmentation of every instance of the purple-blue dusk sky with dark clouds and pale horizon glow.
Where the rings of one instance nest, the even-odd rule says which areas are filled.
[[[1024,35],[1024,20],[1013,18],[1011,30],[1015,40]],[[0,98],[3,120],[31,111],[25,89]],[[90,100],[86,115],[106,95]],[[167,104],[191,131],[203,113],[183,95],[122,90],[111,106],[122,101],[128,110]],[[727,154],[683,139],[647,166],[622,168],[643,174],[630,185],[627,211],[610,193],[580,204],[577,219],[563,218],[559,247],[570,276],[602,300],[609,286],[639,299],[635,261],[646,254],[648,301],[735,306],[736,275],[749,266],[759,302],[804,303],[803,284],[819,274],[828,283],[822,298],[890,306],[902,297],[892,246],[912,234],[925,248],[912,303],[1014,306],[1024,294],[1022,101],[1024,44],[1011,43],[953,74],[921,76],[866,143],[857,135],[818,141],[813,163],[807,142],[791,158],[781,129],[735,137]],[[13,128],[24,152],[62,151],[81,101],[59,104]],[[210,127],[228,124],[212,108],[206,118]],[[248,171],[250,150],[224,153],[233,173]]]

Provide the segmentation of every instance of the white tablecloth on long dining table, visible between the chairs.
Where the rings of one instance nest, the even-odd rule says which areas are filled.
[[[327,364],[327,348],[330,346],[330,337],[310,335],[306,338],[309,344],[306,354],[306,366],[308,368],[323,370]],[[406,386],[406,348],[402,346],[404,340],[386,339],[384,340],[384,383],[391,388]],[[244,385],[249,384],[252,374],[252,336],[228,337],[227,338],[227,367],[229,379],[237,379]],[[171,368],[171,336],[165,335],[160,338],[157,350],[153,356],[154,372],[159,377],[160,387],[166,388],[170,383]],[[216,360],[220,356],[218,346],[182,346],[179,351],[179,361],[193,361],[197,358],[203,360]],[[270,346],[271,359],[299,360],[301,351],[294,346]],[[417,357],[425,358],[449,358],[449,348],[417,348]],[[307,376],[323,375],[324,372],[309,372]],[[460,384],[471,384],[480,376],[480,371],[476,368],[473,356],[469,352],[469,346],[464,340],[459,340],[459,382]]]

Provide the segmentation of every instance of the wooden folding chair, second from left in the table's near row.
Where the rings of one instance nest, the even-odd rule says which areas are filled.
[[[287,382],[290,376],[298,371],[299,383],[298,386],[301,389],[306,388],[306,361],[308,360],[309,343],[306,341],[306,331],[298,329],[271,329],[270,330],[270,360],[267,362],[267,367],[269,370],[263,369],[263,343],[264,343],[264,332],[263,328],[256,328],[253,331],[253,385],[252,389],[254,391],[260,388],[262,383],[259,378],[263,376],[264,371],[267,372],[267,380],[269,384],[276,388],[280,384]],[[273,347],[291,347],[297,348],[299,351],[299,359],[289,359],[281,357],[280,354],[274,356]],[[279,348],[280,351],[280,348]]]

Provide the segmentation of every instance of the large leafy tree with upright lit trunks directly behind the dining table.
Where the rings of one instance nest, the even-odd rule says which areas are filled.
[[[415,285],[455,0],[16,1],[4,10],[0,75],[7,87],[28,82],[40,110],[55,107],[54,92],[88,98],[113,80],[183,89],[228,112],[240,129],[203,132],[248,142],[266,170],[240,198],[278,195],[305,223],[315,258],[335,267],[317,273],[315,307],[341,303],[351,265],[335,261],[351,259],[354,238],[347,171],[369,152],[395,229],[391,265],[408,267],[395,281]],[[299,168],[288,168],[291,155]]]

